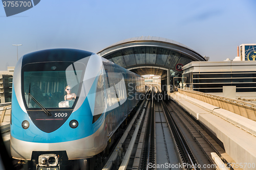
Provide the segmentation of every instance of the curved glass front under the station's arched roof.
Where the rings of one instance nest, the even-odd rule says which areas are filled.
[[[193,61],[179,52],[158,46],[135,46],[124,48],[110,55],[106,55],[104,58],[109,59],[124,68],[154,65],[170,68],[172,70],[176,70],[176,65],[179,63],[185,65]],[[133,71],[139,75],[143,75],[140,70]],[[158,70],[158,74],[156,74],[156,72],[152,72],[151,74],[161,76],[164,71],[165,70]]]

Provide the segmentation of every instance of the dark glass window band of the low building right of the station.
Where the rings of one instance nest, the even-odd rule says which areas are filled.
[[[223,92],[223,86],[236,86],[237,92],[256,92],[256,71],[187,72],[186,87],[201,92]]]

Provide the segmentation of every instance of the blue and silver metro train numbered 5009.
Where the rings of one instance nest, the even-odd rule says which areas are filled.
[[[144,92],[144,78],[91,52],[26,54],[13,76],[11,155],[29,169],[99,155]]]

